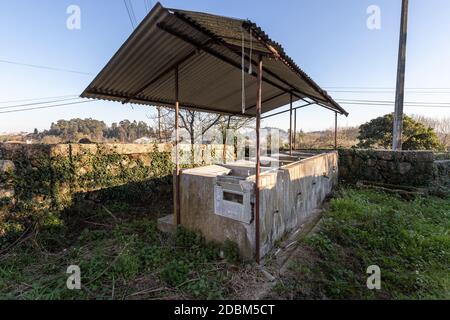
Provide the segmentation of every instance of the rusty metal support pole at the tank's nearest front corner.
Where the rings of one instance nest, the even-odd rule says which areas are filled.
[[[260,129],[261,129],[261,96],[262,96],[262,56],[258,57],[258,78],[257,78],[257,88],[256,93],[256,175],[255,175],[255,260],[257,263],[260,262],[260,239],[259,239],[259,207],[260,207],[260,157],[261,157],[261,146],[260,146]]]

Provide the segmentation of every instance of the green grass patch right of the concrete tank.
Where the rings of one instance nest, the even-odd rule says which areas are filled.
[[[381,290],[367,289],[367,267]],[[450,199],[346,189],[302,243],[274,297],[450,299]]]

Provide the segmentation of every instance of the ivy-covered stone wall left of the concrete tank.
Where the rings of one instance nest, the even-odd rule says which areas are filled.
[[[170,150],[167,145],[0,144],[0,222],[6,214],[61,210],[82,195],[137,202],[171,195]]]

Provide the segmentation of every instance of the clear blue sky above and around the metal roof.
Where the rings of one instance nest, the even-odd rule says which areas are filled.
[[[140,21],[144,0],[131,0]],[[81,30],[66,28],[66,9],[81,8]],[[152,1],[152,5],[155,1]],[[166,7],[249,18],[259,24],[322,87],[395,87],[401,0],[183,0]],[[381,8],[381,30],[366,27],[369,5]],[[410,0],[406,86],[450,88],[450,1]],[[122,0],[2,0],[0,60],[83,71],[92,75],[35,69],[0,62],[0,102],[80,94],[132,31]],[[340,89],[344,90],[345,89]],[[331,92],[336,99],[393,100],[394,92]],[[450,103],[442,94],[410,92],[407,101]],[[2,106],[14,103],[2,103]],[[343,106],[350,112],[340,125],[358,125],[393,107]],[[2,110],[0,110],[2,111]],[[94,102],[70,107],[0,114],[0,132],[45,129],[58,119],[87,118],[110,124],[148,120],[151,108]],[[450,108],[406,107],[406,113],[450,116]],[[327,110],[299,113],[299,127],[333,125]],[[265,125],[286,128],[287,116]]]

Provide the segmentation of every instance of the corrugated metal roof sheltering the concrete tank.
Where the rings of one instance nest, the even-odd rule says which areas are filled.
[[[262,112],[313,99],[347,114],[256,24],[159,3],[82,93],[82,97],[173,107],[175,66],[183,108],[241,115],[241,46],[251,60],[263,55]],[[246,65],[249,65],[247,60]],[[256,64],[253,64],[256,70]],[[255,115],[256,72],[246,74],[246,115]]]

